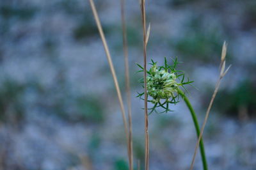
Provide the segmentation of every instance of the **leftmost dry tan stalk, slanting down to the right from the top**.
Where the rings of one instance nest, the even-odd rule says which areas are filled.
[[[112,62],[112,59],[111,59],[111,56],[110,56],[110,53],[109,53],[108,44],[106,42],[106,38],[105,38],[104,33],[102,31],[102,26],[100,24],[100,20],[99,20],[97,10],[95,8],[95,4],[94,4],[93,0],[89,0],[89,1],[90,1],[90,5],[91,5],[91,8],[92,8],[94,19],[95,19],[97,27],[99,29],[100,38],[102,40],[104,50],[105,50],[106,56],[108,58],[109,67],[110,67],[110,70],[111,70],[111,73],[112,73],[112,76],[113,76],[113,79],[114,79],[116,93],[117,93],[117,96],[118,96],[119,104],[120,104],[121,111],[122,111],[122,118],[123,118],[123,121],[124,121],[125,135],[126,135],[126,139],[127,139],[127,153],[129,155],[129,144],[128,144],[129,143],[128,142],[129,141],[129,134],[128,134],[128,129],[127,129],[127,120],[126,120],[126,117],[125,117],[124,102],[122,100],[122,95],[121,95],[120,88],[119,88],[119,85],[118,85],[118,81],[117,81],[117,78],[116,78],[116,73],[115,73],[115,69],[114,69],[114,66],[113,66],[113,62]]]

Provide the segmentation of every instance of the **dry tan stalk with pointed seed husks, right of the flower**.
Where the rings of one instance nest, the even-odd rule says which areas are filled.
[[[193,159],[192,159],[192,162],[191,162],[191,166],[190,166],[190,170],[193,169],[193,166],[194,166],[194,163],[195,163],[195,158],[196,158],[196,153],[197,153],[197,150],[198,150],[198,146],[199,146],[199,143],[200,143],[200,140],[202,138],[202,135],[204,133],[204,128],[205,128],[205,124],[207,123],[207,119],[209,117],[209,113],[211,111],[211,107],[212,107],[212,104],[213,104],[213,101],[214,101],[214,98],[216,97],[216,94],[218,92],[218,89],[220,88],[220,82],[221,82],[221,79],[226,75],[226,73],[228,72],[230,66],[228,66],[227,70],[225,70],[225,58],[226,58],[226,53],[227,53],[227,43],[224,42],[223,43],[223,47],[222,47],[222,52],[221,52],[221,63],[220,63],[220,77],[218,79],[218,81],[216,82],[216,86],[215,86],[215,89],[214,89],[214,93],[212,94],[212,98],[211,98],[211,101],[210,101],[210,104],[207,108],[207,111],[206,111],[206,115],[205,115],[205,118],[204,118],[204,123],[203,123],[203,126],[200,130],[200,135],[198,137],[198,140],[197,140],[197,143],[196,143],[196,147],[195,147],[195,151],[194,151],[194,155],[193,155]]]

